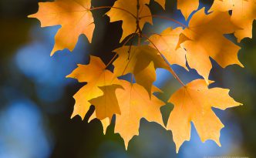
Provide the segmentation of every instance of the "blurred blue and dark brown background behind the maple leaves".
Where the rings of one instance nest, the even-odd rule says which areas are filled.
[[[41,1],[43,2],[43,1]],[[113,5],[114,0],[93,0],[93,6]],[[206,3],[207,2],[207,3]],[[209,8],[211,1],[200,1],[200,8]],[[185,22],[176,2],[167,0],[167,10],[155,2],[150,3],[153,14],[165,15]],[[239,59],[245,68],[228,66],[221,69],[213,61],[211,79],[213,86],[231,89],[231,96],[244,103],[225,111],[214,109],[225,125],[221,130],[222,147],[208,140],[201,143],[194,126],[190,142],[184,143],[180,153],[175,153],[172,134],[157,123],[142,119],[140,136],[130,141],[128,151],[119,134],[113,133],[113,123],[103,135],[101,123],[93,119],[87,123],[93,107],[85,120],[79,116],[69,119],[75,100],[72,96],[84,85],[65,76],[76,64],[87,64],[89,54],[112,58],[113,49],[120,46],[122,22],[109,23],[108,9],[94,11],[96,29],[93,44],[81,35],[76,49],[49,56],[54,45],[54,35],[60,26],[40,28],[35,18],[27,15],[37,12],[38,0],[0,0],[0,158],[59,158],[59,157],[205,157],[247,156],[255,157],[256,146],[256,22],[253,39],[244,39],[239,45]],[[154,19],[144,32],[161,32],[178,25]],[[234,39],[234,35],[227,35]],[[187,72],[173,66],[184,82],[200,76],[194,70]],[[179,83],[164,70],[157,70],[157,82],[167,101],[180,88]],[[161,111],[167,123],[173,105]]]

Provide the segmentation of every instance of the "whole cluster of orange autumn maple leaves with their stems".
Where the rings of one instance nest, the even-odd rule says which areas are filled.
[[[165,8],[165,0],[155,1]],[[84,119],[93,105],[95,112],[89,120],[101,120],[105,132],[110,120],[116,115],[115,133],[123,137],[126,148],[133,136],[139,134],[141,118],[170,129],[177,151],[185,140],[190,140],[190,122],[194,123],[203,142],[214,140],[221,146],[220,130],[224,125],[211,107],[227,109],[240,106],[241,103],[229,96],[228,89],[208,88],[213,82],[208,80],[212,68],[210,57],[223,68],[233,64],[243,66],[237,59],[241,48],[226,39],[224,34],[234,33],[238,42],[246,37],[251,38],[256,1],[215,0],[210,10],[206,11],[205,8],[197,10],[199,0],[177,0],[177,8],[186,20],[197,10],[188,26],[173,18],[151,15],[149,3],[150,0],[117,0],[113,6],[93,8],[91,0],[56,0],[40,2],[39,12],[29,17],[38,18],[42,27],[62,25],[56,33],[51,55],[62,49],[72,51],[79,35],[86,35],[89,42],[92,41],[95,29],[92,10],[109,8],[106,15],[110,22],[123,21],[120,41],[126,41],[119,49],[113,50],[116,55],[107,65],[91,55],[88,65],[78,65],[67,76],[87,82],[74,96],[76,105],[72,117],[79,115]],[[143,25],[147,22],[153,25],[152,18],[171,20],[180,27],[167,28],[160,34],[147,37],[142,31]],[[138,39],[137,45],[127,45],[133,38]],[[110,64],[114,66],[113,72],[108,70]],[[185,86],[171,69],[170,65],[173,64],[187,71],[187,66],[190,66],[204,79],[196,79]],[[156,69],[167,69],[182,85],[170,96],[169,102],[173,103],[174,109],[167,126],[163,124],[160,113],[160,107],[166,103],[153,95],[154,92],[161,92],[153,86]],[[126,74],[133,74],[130,82],[120,79]]]

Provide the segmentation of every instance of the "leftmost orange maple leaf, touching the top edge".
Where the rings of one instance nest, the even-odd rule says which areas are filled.
[[[86,35],[92,42],[93,14],[89,11],[91,0],[56,0],[55,2],[39,2],[39,12],[29,15],[38,18],[42,27],[61,25],[56,33],[55,45],[51,55],[62,49],[72,51],[79,39],[79,35]]]

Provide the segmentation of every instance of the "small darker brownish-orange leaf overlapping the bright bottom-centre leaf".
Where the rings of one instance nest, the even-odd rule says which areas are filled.
[[[89,100],[95,106],[97,119],[112,119],[114,114],[121,114],[120,107],[116,99],[116,89],[120,89],[120,85],[100,86],[103,96]]]

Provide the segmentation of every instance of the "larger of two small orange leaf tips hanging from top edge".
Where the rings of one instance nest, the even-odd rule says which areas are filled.
[[[177,0],[177,8],[180,9],[186,20],[198,7],[199,0]]]

